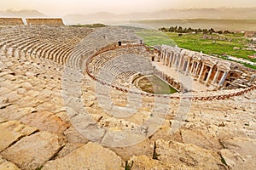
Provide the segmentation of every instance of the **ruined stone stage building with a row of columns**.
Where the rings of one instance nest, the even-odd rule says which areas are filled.
[[[214,88],[249,88],[253,70],[241,64],[193,52],[183,48],[162,46],[160,60],[186,76]]]

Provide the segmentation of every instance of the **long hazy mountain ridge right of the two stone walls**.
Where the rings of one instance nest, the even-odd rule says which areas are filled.
[[[84,24],[106,20],[167,20],[167,19],[236,19],[256,20],[255,8],[185,8],[167,9],[153,13],[112,14],[68,14],[63,17],[67,24]]]

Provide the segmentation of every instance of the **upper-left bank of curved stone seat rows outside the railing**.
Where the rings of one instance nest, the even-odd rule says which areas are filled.
[[[110,43],[119,40],[128,41],[134,38],[129,33],[121,34],[121,31],[120,28],[106,28],[84,39],[91,32],[91,29],[14,26],[3,28],[0,35],[2,47],[18,48],[20,56],[51,59],[62,65],[67,64],[80,69],[81,58],[84,55],[99,50]]]

